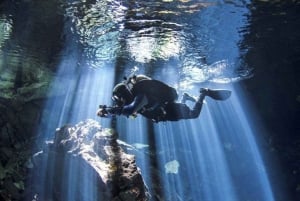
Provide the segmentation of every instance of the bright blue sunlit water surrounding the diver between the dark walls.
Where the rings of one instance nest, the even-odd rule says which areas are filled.
[[[118,117],[119,139],[137,147],[129,152],[136,155],[153,198],[274,201],[260,151],[263,130],[249,116],[255,111],[249,108],[239,87],[239,81],[251,77],[251,69],[236,73],[243,53],[239,49],[241,31],[250,15],[247,3],[214,1],[199,10],[191,9],[192,14],[182,15],[177,21],[176,15],[155,16],[158,7],[154,6],[151,12],[158,20],[155,25],[155,19],[143,21],[143,9],[128,17],[127,4],[123,3],[96,1],[82,12],[76,10],[82,8],[81,3],[68,5],[69,20],[64,31],[69,40],[64,44],[52,88],[53,92],[62,90],[65,96],[53,98],[45,105],[44,123],[38,130],[44,135],[40,140],[53,138],[57,127],[87,118],[110,127],[110,120],[96,116],[97,107],[111,104],[113,86],[133,69],[165,81],[179,94],[188,91],[197,96],[200,87],[230,89],[232,96],[226,101],[206,98],[200,117],[195,120],[154,124],[141,116]],[[103,13],[93,12],[95,8]],[[172,9],[166,11],[171,13]],[[126,28],[129,22],[133,25]],[[141,27],[134,28],[134,24],[141,23]],[[80,48],[82,52],[78,51]],[[46,162],[47,171],[51,162]],[[85,171],[73,167],[76,166],[72,161],[64,164],[70,178],[62,184],[65,200],[74,200],[77,182],[82,182],[76,180],[76,173]],[[86,196],[83,200],[97,197],[93,182],[87,174],[82,186]],[[51,189],[51,183],[45,186]]]

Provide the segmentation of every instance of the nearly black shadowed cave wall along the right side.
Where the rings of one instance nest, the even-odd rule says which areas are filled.
[[[268,151],[278,158],[277,172],[300,200],[300,3],[253,1],[244,62],[254,77],[242,82],[269,133]]]

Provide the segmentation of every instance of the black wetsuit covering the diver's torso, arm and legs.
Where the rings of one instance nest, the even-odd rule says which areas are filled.
[[[140,85],[137,84],[132,94],[134,100],[125,105],[120,114],[129,116],[139,113],[155,122],[197,118],[204,100],[204,95],[200,95],[193,109],[190,109],[184,103],[175,102],[177,92],[174,88],[157,80],[147,80]]]

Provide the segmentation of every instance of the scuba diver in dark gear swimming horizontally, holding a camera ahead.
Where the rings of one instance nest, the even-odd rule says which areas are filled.
[[[141,114],[154,122],[195,119],[200,115],[206,96],[215,100],[226,100],[230,95],[229,90],[201,88],[198,98],[184,93],[181,102],[176,102],[178,95],[174,88],[145,75],[133,75],[114,87],[114,106],[100,105],[97,115],[136,117]],[[185,104],[187,100],[195,102],[193,108]]]

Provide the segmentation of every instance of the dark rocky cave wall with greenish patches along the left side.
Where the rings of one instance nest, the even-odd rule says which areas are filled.
[[[44,102],[63,94],[48,93],[63,43],[59,10],[56,1],[0,3],[1,200],[19,200]]]

